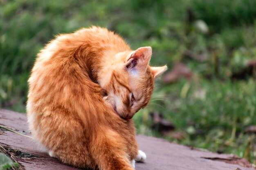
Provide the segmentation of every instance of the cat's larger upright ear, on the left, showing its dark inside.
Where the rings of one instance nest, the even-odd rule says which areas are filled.
[[[129,55],[126,59],[126,68],[146,68],[152,55],[152,49],[150,46],[140,47]]]

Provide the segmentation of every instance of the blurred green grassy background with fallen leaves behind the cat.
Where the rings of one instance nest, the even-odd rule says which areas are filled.
[[[0,0],[0,108],[25,113],[36,53],[91,25],[168,65],[139,134],[256,163],[256,0]]]

